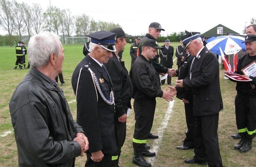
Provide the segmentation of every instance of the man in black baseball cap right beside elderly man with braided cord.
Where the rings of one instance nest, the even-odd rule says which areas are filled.
[[[108,62],[104,65],[112,80],[115,95],[118,150],[112,155],[111,166],[118,167],[118,161],[126,137],[126,114],[127,110],[132,108],[131,99],[133,92],[132,81],[124,66],[124,61],[119,59],[118,53],[124,50],[124,46],[127,44],[126,38],[131,36],[126,35],[122,28],[114,28],[110,32],[117,34],[116,51],[112,52],[113,57],[109,58]]]

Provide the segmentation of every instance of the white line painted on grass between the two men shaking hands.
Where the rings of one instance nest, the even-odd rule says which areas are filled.
[[[171,117],[173,104],[174,104],[174,100],[169,102],[169,107],[168,107],[168,109],[167,109],[167,111],[165,113],[162,125],[157,130],[157,134],[159,136],[159,139],[155,139],[154,140],[154,143],[152,145],[153,147],[150,146],[151,147],[150,151],[154,151],[156,154],[158,153],[159,146],[161,145],[161,142],[162,142],[163,132],[166,129],[166,127],[168,125],[168,122],[169,122],[169,119]],[[155,160],[155,157],[147,158],[147,161],[150,162],[151,164],[154,163],[154,160]]]

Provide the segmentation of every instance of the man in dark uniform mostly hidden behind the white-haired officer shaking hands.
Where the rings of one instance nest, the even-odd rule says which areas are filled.
[[[190,54],[185,54],[184,59],[181,62],[181,67],[176,70],[178,74],[178,80],[185,79],[189,77],[189,69],[191,66],[192,59],[194,57]],[[177,88],[177,87],[176,87]],[[177,88],[178,89],[178,88]],[[183,92],[180,92],[176,96],[181,99],[184,103],[186,124],[187,124],[187,133],[186,138],[181,146],[176,147],[177,149],[187,150],[194,148],[194,126],[195,126],[195,117],[193,116],[193,94],[191,89],[183,88]]]

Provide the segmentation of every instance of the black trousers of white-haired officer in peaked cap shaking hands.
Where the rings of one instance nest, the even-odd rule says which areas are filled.
[[[207,162],[211,167],[223,167],[217,133],[218,122],[219,113],[195,116],[194,159]]]

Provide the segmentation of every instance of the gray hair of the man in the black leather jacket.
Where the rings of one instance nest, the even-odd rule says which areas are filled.
[[[43,32],[32,36],[28,43],[29,63],[37,69],[48,64],[52,53],[58,56],[61,49],[60,37],[53,32]]]

